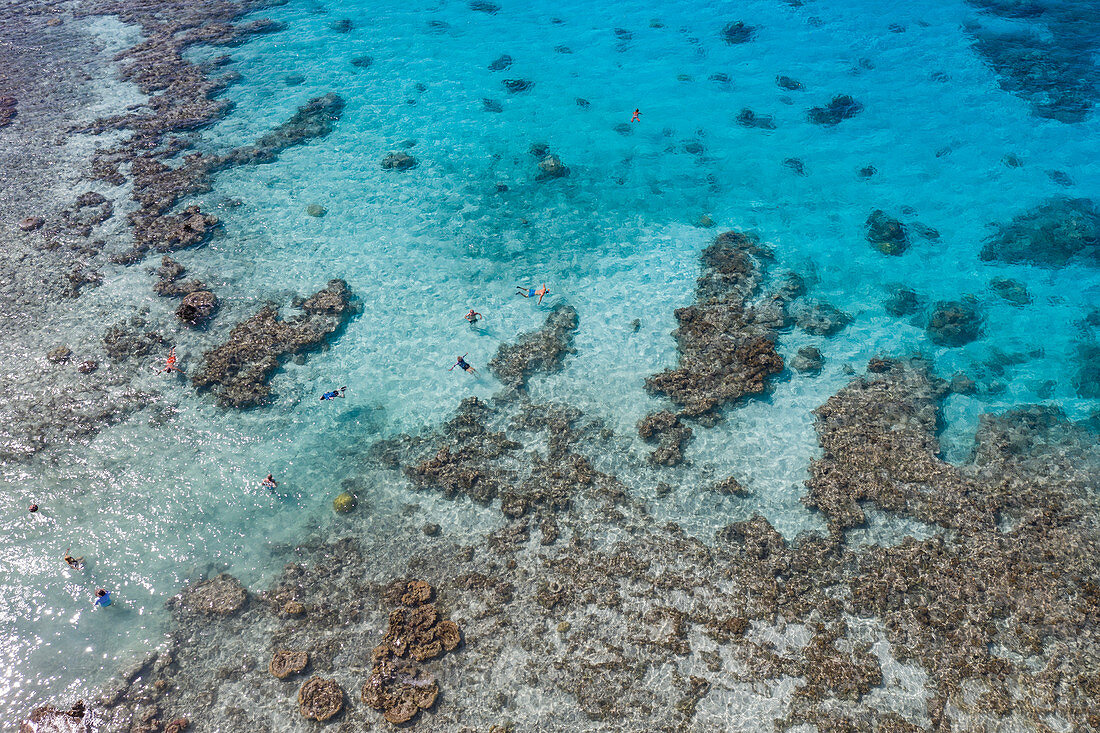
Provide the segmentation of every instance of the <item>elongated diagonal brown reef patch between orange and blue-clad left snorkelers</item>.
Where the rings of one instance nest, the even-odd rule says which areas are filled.
[[[354,311],[342,280],[329,281],[301,304],[301,315],[279,320],[278,308],[267,305],[238,324],[223,344],[202,354],[191,384],[215,392],[223,407],[255,407],[267,402],[267,382],[280,360],[320,347]]]

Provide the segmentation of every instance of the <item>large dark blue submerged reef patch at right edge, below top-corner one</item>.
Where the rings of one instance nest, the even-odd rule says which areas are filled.
[[[1052,198],[1002,225],[981,259],[1063,267],[1100,266],[1100,211],[1088,198]]]

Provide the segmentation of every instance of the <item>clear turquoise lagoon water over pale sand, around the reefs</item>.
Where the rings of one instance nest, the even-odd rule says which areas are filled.
[[[373,440],[437,425],[461,398],[498,389],[485,369],[480,380],[448,372],[455,354],[469,352],[484,368],[502,341],[537,328],[556,303],[580,313],[578,353],[560,373],[537,378],[532,396],[576,405],[619,431],[624,453],[598,468],[630,483],[647,450],[634,426],[666,404],[646,394],[642,380],[675,362],[672,311],[691,302],[698,252],[725,228],[758,232],[774,249],[774,274],[799,272],[811,297],[854,320],[833,338],[783,333],[787,358],[818,347],[823,373],[787,374],[767,398],[695,429],[689,464],[668,472],[682,488],[654,501],[659,515],[693,534],[710,537],[756,512],[790,537],[821,529],[799,503],[817,451],[811,411],[847,383],[845,365],[859,371],[872,355],[924,353],[947,376],[988,374],[990,364],[999,371],[980,380],[997,389],[946,403],[943,439],[955,460],[967,456],[983,412],[1043,402],[1080,418],[1098,408],[1071,384],[1077,324],[1100,295],[1097,272],[978,258],[991,222],[1049,196],[1098,194],[1096,119],[1032,116],[999,88],[965,30],[975,21],[1027,21],[931,0],[529,2],[496,14],[465,2],[292,0],[262,17],[287,29],[229,50],[228,68],[241,74],[226,92],[235,108],[196,145],[251,142],[329,91],[348,106],[331,135],[276,163],[222,173],[198,199],[224,231],[177,259],[224,305],[210,333],[177,335],[180,357],[195,368],[257,304],[289,308],[292,294],[330,277],[349,282],[364,314],[331,349],[282,369],[268,407],[226,413],[183,380],[165,385],[142,373],[139,386],[161,393],[152,407],[90,445],[0,468],[0,484],[16,499],[0,511],[7,720],[47,698],[87,694],[120,661],[155,645],[164,601],[188,579],[222,569],[251,584],[268,579],[307,532],[328,530],[329,502]],[[334,31],[345,18],[350,32]],[[754,25],[754,41],[723,43],[719,31],[732,20]],[[892,32],[892,23],[905,32]],[[490,70],[502,54],[513,66]],[[351,63],[364,55],[373,58],[367,68]],[[301,83],[288,84],[292,75]],[[781,89],[778,75],[804,89]],[[517,78],[534,86],[508,94],[502,79]],[[858,99],[864,112],[833,128],[806,120],[810,107],[838,94]],[[485,99],[501,111],[487,110]],[[635,108],[641,121],[631,125]],[[773,116],[776,129],[737,124],[743,108]],[[549,144],[571,175],[537,182],[528,152],[536,142]],[[397,150],[419,166],[383,171],[380,160]],[[1008,153],[1024,165],[1007,167]],[[805,175],[784,165],[792,157]],[[870,179],[857,175],[866,165],[878,172]],[[1053,182],[1050,169],[1072,185]],[[327,216],[307,216],[310,204]],[[864,237],[868,214],[903,207],[912,209],[903,220],[934,227],[941,239],[916,238],[902,256],[879,254]],[[694,226],[704,214],[716,229]],[[992,277],[1024,282],[1033,302],[999,298]],[[542,306],[513,295],[516,284],[540,283],[552,289]],[[920,326],[884,310],[898,283],[928,302],[977,297],[983,338],[933,344]],[[179,331],[173,304],[150,285],[144,267],[108,273],[61,322],[76,331],[88,327],[79,313],[89,308],[123,316],[145,308],[152,324]],[[471,307],[486,315],[481,331],[462,320]],[[343,384],[345,401],[318,402]],[[274,496],[257,486],[268,471],[282,482]],[[729,474],[752,496],[696,490]],[[641,480],[632,488],[653,496]],[[369,493],[380,512],[405,499],[398,484]],[[41,519],[28,521],[31,501],[43,504]],[[417,501],[451,534],[477,535],[497,522],[492,510]],[[68,546],[89,558],[88,570],[64,569]],[[90,610],[98,586],[116,589],[109,612]]]

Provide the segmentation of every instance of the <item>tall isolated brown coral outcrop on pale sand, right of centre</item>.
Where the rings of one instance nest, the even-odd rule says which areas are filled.
[[[689,417],[767,390],[783,370],[774,338],[787,307],[782,298],[750,302],[769,258],[756,237],[734,231],[703,250],[695,304],[675,311],[680,362],[647,378],[647,390],[668,395]]]

